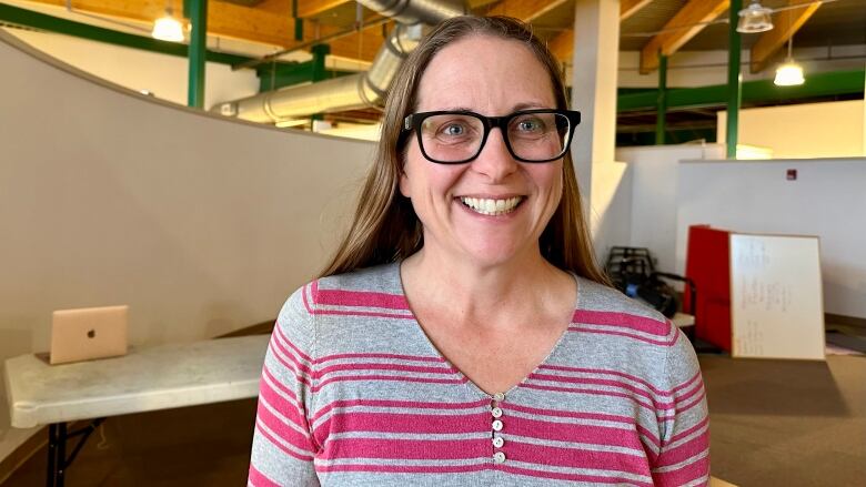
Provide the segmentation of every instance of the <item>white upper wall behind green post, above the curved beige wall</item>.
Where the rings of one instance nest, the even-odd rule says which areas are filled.
[[[33,48],[95,77],[130,90],[148,90],[161,100],[187,104],[187,80],[190,67],[187,58],[128,49],[51,32],[3,30]],[[258,92],[259,79],[254,70],[232,71],[228,64],[207,63],[205,108]]]

